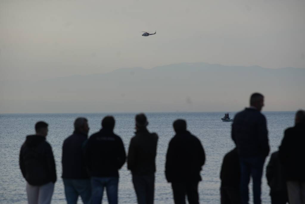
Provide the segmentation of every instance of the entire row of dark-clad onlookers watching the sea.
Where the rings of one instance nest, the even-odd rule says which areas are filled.
[[[253,203],[261,203],[261,180],[269,154],[267,121],[260,112],[264,96],[254,93],[250,106],[235,115],[231,138],[236,147],[221,165],[221,204],[248,204],[249,181],[253,183]],[[119,135],[113,132],[115,119],[102,119],[99,132],[88,138],[88,120],[79,117],[74,132],[63,142],[62,179],[68,204],[80,196],[84,204],[100,204],[103,192],[109,204],[117,204],[119,169],[127,161],[139,204],[154,203],[158,135],[147,129],[145,114],[135,116],[135,135],[128,155]],[[170,140],[165,177],[171,183],[175,204],[199,203],[198,184],[206,156],[200,140],[192,135],[185,120],[174,121],[175,135]],[[56,178],[52,147],[46,141],[48,124],[39,121],[36,135],[28,135],[20,150],[20,169],[27,181],[29,204],[51,203]],[[271,154],[266,168],[272,204],[305,204],[305,111],[299,110],[295,126],[285,130],[279,150]]]

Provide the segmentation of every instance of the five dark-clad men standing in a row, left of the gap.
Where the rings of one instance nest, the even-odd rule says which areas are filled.
[[[106,116],[102,128],[88,139],[88,120],[77,118],[74,132],[63,142],[62,169],[66,201],[76,204],[80,196],[84,204],[100,204],[103,191],[109,204],[118,203],[118,170],[127,160],[139,204],[154,202],[156,151],[158,135],[147,129],[145,114],[135,117],[135,136],[131,138],[128,157],[120,136],[114,134],[115,120]],[[186,121],[173,123],[176,135],[170,140],[166,155],[166,179],[172,184],[175,203],[199,203],[198,183],[205,162],[200,140],[187,131]],[[20,169],[27,181],[30,204],[50,203],[56,182],[52,148],[45,138],[48,124],[35,125],[36,135],[28,135],[20,150]]]

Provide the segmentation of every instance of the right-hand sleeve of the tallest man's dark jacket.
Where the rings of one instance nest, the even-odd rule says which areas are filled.
[[[268,141],[268,130],[266,118],[262,115],[258,121],[258,140],[264,156],[269,154],[269,141]]]

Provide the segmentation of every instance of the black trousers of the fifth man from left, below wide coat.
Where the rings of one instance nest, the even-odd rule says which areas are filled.
[[[189,204],[199,204],[198,181],[172,182],[175,204],[185,204],[185,195]]]

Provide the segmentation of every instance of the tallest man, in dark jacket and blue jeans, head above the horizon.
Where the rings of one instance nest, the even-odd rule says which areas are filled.
[[[253,202],[260,204],[263,166],[269,154],[267,122],[260,113],[264,106],[264,96],[254,93],[250,97],[250,107],[237,113],[232,124],[232,139],[239,153],[241,168],[242,204],[249,201],[250,175],[253,180]]]

